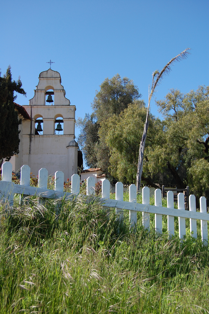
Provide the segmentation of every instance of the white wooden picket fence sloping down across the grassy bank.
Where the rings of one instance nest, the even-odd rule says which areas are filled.
[[[38,187],[30,187],[30,167],[21,167],[20,184],[12,182],[12,165],[5,162],[2,165],[2,181],[0,181],[0,199],[13,205],[14,193],[20,195],[36,195],[42,198],[65,198],[73,199],[80,192],[80,176],[74,174],[71,178],[71,193],[63,192],[64,174],[62,171],[55,172],[55,188],[47,189],[48,171],[45,168],[39,170]],[[95,179],[88,177],[86,180],[86,195],[95,194]],[[174,235],[174,216],[179,218],[179,238],[182,239],[186,234],[185,218],[190,219],[190,232],[197,238],[196,220],[201,220],[201,238],[203,245],[208,243],[206,198],[200,198],[200,212],[196,212],[196,200],[194,195],[189,197],[189,211],[184,208],[184,194],[178,194],[178,209],[174,209],[173,192],[167,193],[167,207],[162,207],[162,193],[160,189],[155,190],[155,205],[150,205],[150,190],[148,187],[142,189],[142,204],[136,203],[136,186],[131,184],[129,187],[129,202],[123,201],[123,183],[118,182],[115,186],[115,200],[110,199],[110,182],[102,182],[101,205],[116,208],[119,219],[123,219],[123,211],[129,210],[130,230],[137,224],[137,212],[142,212],[142,225],[150,230],[150,213],[155,214],[155,230],[162,234],[162,215],[168,217],[168,235]]]

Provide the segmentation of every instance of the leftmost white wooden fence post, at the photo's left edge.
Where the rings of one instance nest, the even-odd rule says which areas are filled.
[[[14,191],[12,186],[12,164],[5,161],[2,165],[2,181],[0,181],[0,198],[3,202],[8,200],[10,206],[13,206]]]

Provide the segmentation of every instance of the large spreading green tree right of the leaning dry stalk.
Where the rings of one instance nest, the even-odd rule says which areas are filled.
[[[177,187],[189,185],[195,195],[207,196],[209,87],[200,86],[186,95],[171,89],[157,105],[164,120],[162,131],[155,136],[155,145],[147,149],[150,174],[158,169],[167,173],[170,183]]]

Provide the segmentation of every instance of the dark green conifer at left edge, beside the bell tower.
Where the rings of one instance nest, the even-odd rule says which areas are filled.
[[[18,114],[14,110],[14,92],[26,95],[20,78],[12,80],[11,67],[6,74],[0,73],[0,160],[10,160],[11,156],[19,153],[19,124]]]

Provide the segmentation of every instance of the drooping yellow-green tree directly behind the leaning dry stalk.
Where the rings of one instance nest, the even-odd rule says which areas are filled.
[[[109,117],[99,130],[99,135],[103,133],[106,144],[110,151],[109,171],[112,176],[123,183],[136,183],[136,171],[138,164],[138,152],[140,138],[143,133],[146,121],[146,107],[144,100],[134,101],[128,108],[118,116]],[[147,146],[154,145],[155,134],[159,132],[161,123],[150,114],[149,130],[147,133]],[[153,187],[158,188],[147,172],[147,156],[145,154],[144,173],[142,180]]]

